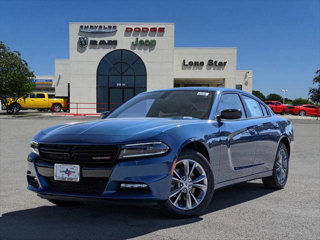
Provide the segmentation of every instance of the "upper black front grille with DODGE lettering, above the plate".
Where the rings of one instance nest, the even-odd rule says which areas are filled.
[[[49,161],[112,162],[118,145],[39,144],[41,158]]]

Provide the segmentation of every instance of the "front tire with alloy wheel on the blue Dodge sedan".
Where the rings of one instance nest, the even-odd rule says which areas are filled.
[[[200,214],[210,203],[214,178],[210,163],[195,150],[183,150],[174,167],[169,199],[161,210],[174,218]]]

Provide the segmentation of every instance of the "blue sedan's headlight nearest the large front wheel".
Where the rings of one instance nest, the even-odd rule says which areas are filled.
[[[121,145],[118,158],[153,156],[164,154],[169,147],[160,141]]]

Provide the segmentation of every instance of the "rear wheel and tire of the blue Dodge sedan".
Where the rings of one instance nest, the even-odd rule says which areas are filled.
[[[284,187],[289,170],[289,155],[286,146],[280,142],[274,164],[272,169],[272,175],[262,177],[263,185],[266,188],[281,189]]]

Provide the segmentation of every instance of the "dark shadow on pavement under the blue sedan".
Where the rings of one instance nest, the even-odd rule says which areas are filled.
[[[215,192],[203,214],[246,202],[273,190],[247,182]],[[214,218],[213,218],[214,219]],[[83,204],[74,207],[43,205],[12,211],[0,217],[1,239],[127,239],[150,233],[151,238],[169,238],[156,232],[201,221],[171,219],[154,207],[117,204]]]

